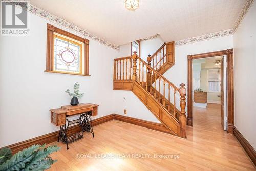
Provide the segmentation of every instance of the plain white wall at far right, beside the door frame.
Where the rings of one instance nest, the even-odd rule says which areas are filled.
[[[256,2],[234,33],[234,126],[256,149]]]

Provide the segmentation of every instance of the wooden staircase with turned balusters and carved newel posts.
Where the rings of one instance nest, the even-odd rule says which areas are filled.
[[[167,71],[167,68],[174,64],[174,59],[172,62],[167,59],[169,55],[173,55],[173,53],[168,54],[167,44],[160,49],[164,48],[166,48],[166,53],[159,60],[156,58],[159,55],[155,53],[153,58],[148,56],[148,63],[139,58],[136,52],[133,56],[114,59],[113,87],[114,90],[131,90],[170,134],[185,138],[185,84],[180,84],[181,87],[177,88],[160,73]],[[159,52],[161,53],[161,51]],[[152,59],[153,62],[151,62]],[[151,65],[151,63],[153,64]],[[179,102],[180,110],[176,105]]]

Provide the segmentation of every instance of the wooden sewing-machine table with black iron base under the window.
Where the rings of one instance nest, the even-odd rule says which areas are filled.
[[[91,124],[92,116],[96,116],[98,114],[98,106],[97,104],[91,103],[81,103],[76,106],[65,105],[61,106],[61,108],[51,109],[51,122],[56,126],[60,126],[59,129],[59,140],[63,143],[67,144],[67,149],[69,149],[69,143],[74,142],[83,138],[83,132],[89,132],[93,134],[93,127]],[[79,119],[69,121],[67,117],[79,115]],[[81,127],[81,130],[78,133],[67,136],[68,127],[72,124],[78,123]]]

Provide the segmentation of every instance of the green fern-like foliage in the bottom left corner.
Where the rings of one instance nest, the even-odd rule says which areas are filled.
[[[49,155],[59,150],[56,145],[32,145],[12,155],[10,148],[0,149],[0,170],[46,170],[57,160]]]

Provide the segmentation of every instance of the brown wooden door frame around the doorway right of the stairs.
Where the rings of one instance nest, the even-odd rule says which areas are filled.
[[[234,127],[234,76],[233,49],[187,56],[187,125],[193,126],[192,60],[227,55],[227,132],[233,134]]]

